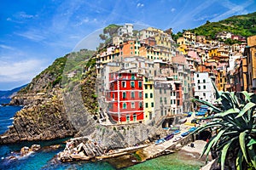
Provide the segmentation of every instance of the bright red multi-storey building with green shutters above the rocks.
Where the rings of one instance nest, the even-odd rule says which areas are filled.
[[[108,113],[116,122],[143,122],[143,77],[137,73],[109,74]]]

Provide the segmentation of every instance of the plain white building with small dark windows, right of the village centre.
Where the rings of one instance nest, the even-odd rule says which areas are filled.
[[[195,72],[194,80],[195,99],[202,99],[213,104],[215,101],[215,90],[208,72]]]

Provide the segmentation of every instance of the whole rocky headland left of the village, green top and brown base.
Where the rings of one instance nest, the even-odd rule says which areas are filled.
[[[84,103],[83,106],[89,111],[89,115],[97,111],[96,99],[93,98],[96,73],[90,71],[95,68],[95,60],[90,59],[92,54],[93,51],[81,50],[55,59],[54,63],[33,78],[26,88],[22,88],[10,104],[24,107],[15,114],[13,125],[0,136],[0,144],[59,139],[77,133],[76,125],[73,126],[71,122],[76,111],[67,110],[65,96],[68,97],[68,94],[75,91],[73,89],[77,89],[84,99],[80,103]],[[63,82],[65,78],[68,81]],[[67,89],[71,87],[72,89]],[[66,91],[67,94],[64,95]]]

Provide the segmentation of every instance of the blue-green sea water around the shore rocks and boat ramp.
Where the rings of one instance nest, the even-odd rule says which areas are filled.
[[[9,103],[9,99],[0,99],[0,104]],[[4,133],[13,123],[13,117],[17,111],[22,109],[21,106],[2,106],[0,105],[0,133]],[[110,170],[119,169],[122,164],[119,159],[111,159],[106,161],[76,161],[62,163],[57,161],[55,156],[64,149],[63,143],[67,139],[58,139],[42,142],[22,142],[19,144],[2,144],[0,145],[0,170],[35,170],[35,169],[93,169],[93,170]],[[15,154],[24,146],[30,147],[32,144],[40,144],[43,148],[29,156],[20,159],[9,160],[9,156]],[[49,150],[47,146],[53,144],[61,144],[61,147],[56,150]],[[131,161],[131,160],[126,160]],[[127,162],[126,162],[127,163]],[[118,165],[119,164],[119,165]],[[133,165],[135,164],[135,165]],[[118,166],[117,166],[118,165]],[[144,161],[143,163],[128,163],[131,167],[123,167],[127,170],[150,170],[150,169],[170,169],[170,170],[197,170],[204,165],[203,161],[193,158],[193,156],[184,156],[179,153],[160,156],[152,160]]]

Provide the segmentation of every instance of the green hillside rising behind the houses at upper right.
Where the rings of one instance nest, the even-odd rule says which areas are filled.
[[[208,39],[214,39],[216,34],[221,31],[229,31],[242,37],[256,35],[256,12],[252,14],[243,14],[232,16],[218,22],[209,22],[189,31],[195,32],[195,35],[206,36]],[[180,32],[177,33],[181,37]]]

